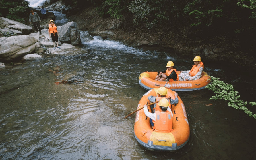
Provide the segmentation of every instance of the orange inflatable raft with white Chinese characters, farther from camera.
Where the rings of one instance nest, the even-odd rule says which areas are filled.
[[[180,72],[177,71],[179,74]],[[144,72],[139,76],[139,84],[142,88],[150,90],[153,88],[165,87],[173,91],[194,91],[204,89],[210,84],[210,76],[206,72],[202,72],[201,78],[191,81],[155,81],[157,72]]]

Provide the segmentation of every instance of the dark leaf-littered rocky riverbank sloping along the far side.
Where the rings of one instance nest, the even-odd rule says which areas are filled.
[[[203,59],[234,62],[256,69],[255,54],[241,50],[243,46],[239,39],[228,35],[193,40],[189,38],[191,30],[185,26],[146,29],[134,26],[131,15],[119,20],[102,18],[96,7],[70,9],[64,12],[69,20],[77,22],[81,31],[88,31],[92,36],[121,41],[128,46],[164,47],[182,55],[200,55]]]

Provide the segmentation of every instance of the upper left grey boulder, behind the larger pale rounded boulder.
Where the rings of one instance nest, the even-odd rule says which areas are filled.
[[[23,35],[28,35],[33,31],[33,29],[23,23],[9,20],[8,18],[0,17],[0,28],[1,29],[11,29],[12,32],[17,33],[18,31],[22,32]]]

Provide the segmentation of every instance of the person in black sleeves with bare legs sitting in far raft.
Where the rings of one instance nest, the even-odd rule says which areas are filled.
[[[167,69],[163,70],[161,72],[157,72],[157,76],[155,80],[157,81],[164,81],[166,79],[169,79],[169,81],[179,80],[179,77],[177,76],[177,71],[174,67],[174,63],[172,61],[169,61],[166,65]]]

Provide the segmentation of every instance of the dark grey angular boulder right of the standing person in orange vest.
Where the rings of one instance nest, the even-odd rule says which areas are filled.
[[[61,43],[68,43],[77,45],[81,43],[80,31],[76,22],[68,22],[63,26],[58,26],[59,41]]]

